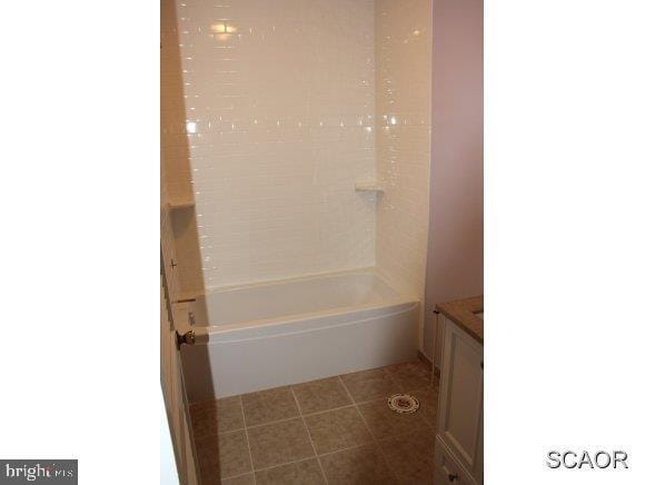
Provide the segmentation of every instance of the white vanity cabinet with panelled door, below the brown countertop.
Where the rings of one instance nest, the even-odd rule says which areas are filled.
[[[435,484],[484,482],[484,347],[449,318],[444,323]]]

